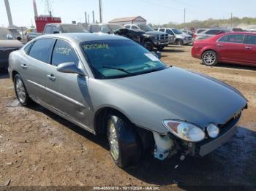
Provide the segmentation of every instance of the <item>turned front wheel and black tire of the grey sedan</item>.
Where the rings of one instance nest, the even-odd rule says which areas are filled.
[[[110,114],[108,117],[108,142],[110,155],[118,167],[124,168],[140,162],[138,133],[130,122],[118,114]]]

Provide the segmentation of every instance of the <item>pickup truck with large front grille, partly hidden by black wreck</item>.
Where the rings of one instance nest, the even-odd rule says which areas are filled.
[[[125,28],[132,29],[132,30],[141,30],[145,31],[150,41],[146,41],[143,44],[144,47],[148,47],[148,50],[153,50],[153,48],[157,48],[157,50],[163,50],[169,44],[169,36],[165,32],[161,31],[154,31],[151,26],[143,25],[143,24],[128,24],[124,25]]]

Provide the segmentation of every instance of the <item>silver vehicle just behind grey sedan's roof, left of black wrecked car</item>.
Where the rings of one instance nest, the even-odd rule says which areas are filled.
[[[94,23],[88,26],[88,31],[90,33],[115,34],[116,31],[118,31],[121,28],[124,28],[124,26],[117,24]]]

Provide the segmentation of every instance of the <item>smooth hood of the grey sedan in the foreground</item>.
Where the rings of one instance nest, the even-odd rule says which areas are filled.
[[[176,115],[202,128],[210,122],[225,125],[247,104],[233,87],[176,67],[109,82],[161,106],[170,120]]]

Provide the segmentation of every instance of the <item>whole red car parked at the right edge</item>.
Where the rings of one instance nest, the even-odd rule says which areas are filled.
[[[206,66],[218,62],[256,66],[256,34],[235,32],[200,40],[192,47],[192,57]]]

